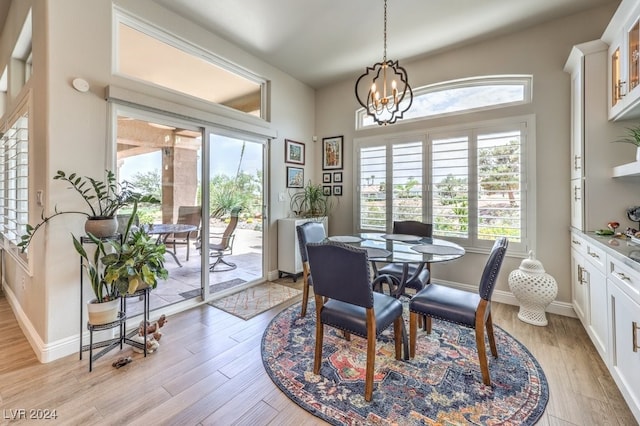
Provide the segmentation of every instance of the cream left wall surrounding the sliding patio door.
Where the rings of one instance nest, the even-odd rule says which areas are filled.
[[[17,3],[22,11],[31,2],[18,0],[13,3],[10,19],[17,18],[17,12],[14,13]],[[76,194],[67,190],[64,184],[52,180],[57,170],[100,177],[111,163],[107,158],[111,118],[105,101],[105,87],[118,85],[168,101],[178,98],[112,75],[111,1],[33,0],[32,3],[34,75],[31,84],[37,92],[38,107],[31,117],[36,149],[32,151],[30,160],[37,167],[30,169],[33,186],[29,222],[37,223],[41,209],[33,201],[36,190],[44,190],[47,214],[56,205],[65,209],[82,208]],[[278,136],[271,146],[272,173],[268,190],[272,194],[286,191],[284,138],[311,140],[314,91],[150,0],[114,3],[270,81],[271,123],[267,127]],[[14,31],[12,23],[8,28]],[[7,54],[5,39],[3,34],[0,43],[3,58]],[[71,81],[76,77],[90,83],[89,92],[80,93],[73,89]],[[206,110],[206,105],[199,101],[194,101],[191,106]],[[314,173],[313,155],[313,152],[307,152],[308,176]],[[276,219],[287,215],[288,203],[276,201],[270,212],[268,228],[274,237],[267,247],[268,270],[275,270]],[[45,362],[77,351],[76,339],[80,332],[79,258],[70,234],[82,234],[83,222],[81,216],[65,216],[63,220],[53,220],[44,232],[39,232],[30,247],[33,257],[31,276],[26,276],[11,258],[7,262],[7,293],[36,354]],[[25,276],[23,290],[21,282]],[[84,295],[88,300],[88,286]]]

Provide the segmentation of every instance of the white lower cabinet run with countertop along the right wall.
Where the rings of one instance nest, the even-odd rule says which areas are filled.
[[[640,421],[640,247],[571,232],[573,306]]]

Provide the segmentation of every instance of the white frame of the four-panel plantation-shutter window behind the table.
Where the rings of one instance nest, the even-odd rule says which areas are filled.
[[[446,136],[460,136],[460,135],[469,135],[471,139],[473,139],[479,132],[486,133],[487,131],[495,131],[500,129],[513,129],[515,126],[520,126],[522,129],[522,157],[521,157],[521,219],[522,219],[522,227],[521,227],[521,242],[520,243],[509,243],[509,252],[518,256],[525,256],[529,250],[532,250],[535,247],[535,204],[536,204],[536,188],[535,188],[535,116],[534,115],[524,115],[524,116],[513,116],[513,117],[505,117],[498,120],[486,120],[479,122],[471,122],[464,123],[457,126],[447,126],[441,128],[434,128],[428,131],[423,132],[413,132],[409,133],[397,133],[389,136],[377,136],[377,137],[367,137],[367,138],[357,138],[354,140],[354,170],[355,170],[355,179],[356,179],[356,194],[354,200],[354,224],[356,227],[356,232],[379,232],[376,229],[363,229],[360,227],[360,191],[361,187],[359,184],[359,177],[361,174],[361,164],[360,164],[360,150],[366,147],[373,146],[386,146],[387,147],[387,160],[386,164],[389,166],[390,163],[390,152],[392,146],[397,144],[398,141],[407,141],[407,140],[418,140],[422,138],[424,140],[424,149],[423,149],[423,205],[422,205],[422,220],[427,223],[431,223],[433,220],[432,216],[432,192],[431,192],[431,141],[434,138],[441,138]],[[475,152],[476,146],[474,143],[471,143],[469,152],[470,157],[473,158],[472,161],[475,161]],[[473,154],[471,154],[473,152]],[[470,167],[470,170],[475,171],[475,167]],[[472,200],[475,202],[477,200],[477,180],[476,177],[470,171],[469,176],[469,214],[476,215],[477,213],[473,209]],[[476,173],[477,175],[477,173]],[[390,181],[390,176],[393,176],[393,171],[387,168],[386,170],[387,181]],[[387,191],[387,211],[392,211],[392,200],[390,191]],[[473,197],[473,199],[472,199]],[[477,219],[477,216],[476,216]],[[488,240],[479,240],[476,238],[477,235],[477,222],[476,219],[469,220],[469,238],[446,238],[448,240],[454,241],[467,249],[470,252],[488,252],[491,248],[492,241]],[[391,232],[393,219],[391,218],[391,214],[387,214],[386,216],[386,224],[387,229],[385,232]]]

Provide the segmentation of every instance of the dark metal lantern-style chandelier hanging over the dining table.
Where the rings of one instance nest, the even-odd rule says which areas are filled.
[[[367,115],[380,125],[395,123],[409,110],[413,92],[409,86],[407,71],[398,61],[387,60],[387,0],[384,0],[384,55],[378,62],[365,69],[356,81],[356,98]]]

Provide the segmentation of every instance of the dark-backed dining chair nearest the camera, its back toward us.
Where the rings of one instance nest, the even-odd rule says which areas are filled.
[[[313,373],[320,373],[325,324],[363,337],[367,339],[364,399],[371,401],[376,340],[392,323],[396,359],[402,356],[402,303],[373,291],[365,250],[329,241],[308,243],[307,253],[316,302]]]

